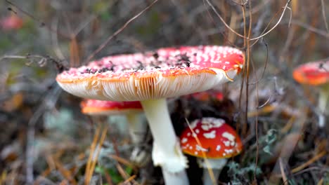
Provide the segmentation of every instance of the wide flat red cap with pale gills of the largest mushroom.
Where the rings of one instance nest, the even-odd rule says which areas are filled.
[[[184,46],[115,55],[58,74],[58,84],[79,97],[140,101],[187,95],[231,81],[243,53],[224,46]]]

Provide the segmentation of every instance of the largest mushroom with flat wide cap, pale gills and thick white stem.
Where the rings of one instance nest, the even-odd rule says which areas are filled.
[[[141,101],[153,135],[153,163],[166,184],[188,184],[187,161],[167,109],[167,97],[188,95],[232,81],[243,53],[224,46],[182,46],[103,57],[58,74],[64,90],[84,98]]]

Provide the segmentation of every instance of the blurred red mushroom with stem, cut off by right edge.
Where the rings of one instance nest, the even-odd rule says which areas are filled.
[[[329,96],[329,61],[302,64],[293,71],[292,76],[298,83],[319,87],[318,109],[321,114],[318,115],[318,126],[323,128],[325,125],[325,108]]]

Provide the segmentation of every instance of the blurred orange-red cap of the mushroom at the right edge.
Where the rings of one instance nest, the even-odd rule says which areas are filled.
[[[329,61],[309,62],[293,71],[292,76],[298,83],[321,85],[329,82]]]

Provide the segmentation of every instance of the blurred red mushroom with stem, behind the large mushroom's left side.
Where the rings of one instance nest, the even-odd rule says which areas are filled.
[[[146,131],[146,121],[141,120],[140,114],[143,111],[141,102],[112,102],[102,100],[84,100],[80,104],[83,114],[91,116],[125,115],[129,124],[129,135],[134,145],[141,144]],[[134,147],[130,160],[137,165],[147,163],[148,154],[146,151]]]

